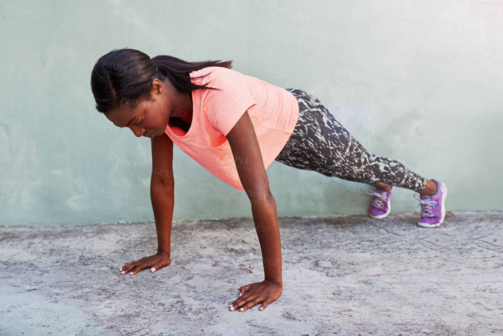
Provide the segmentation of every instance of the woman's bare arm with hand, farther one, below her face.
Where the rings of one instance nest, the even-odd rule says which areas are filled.
[[[143,268],[155,272],[171,263],[171,224],[175,205],[175,180],[173,178],[173,141],[165,133],[154,137],[152,143],[152,176],[150,198],[157,230],[157,253],[139,260],[127,262],[119,271],[135,275]]]

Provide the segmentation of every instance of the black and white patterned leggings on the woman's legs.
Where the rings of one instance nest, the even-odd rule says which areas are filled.
[[[373,186],[384,182],[417,192],[425,188],[424,177],[398,161],[367,152],[316,97],[286,90],[297,98],[299,120],[277,161]]]

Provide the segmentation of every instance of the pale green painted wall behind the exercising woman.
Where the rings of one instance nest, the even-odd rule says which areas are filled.
[[[138,14],[140,4],[141,11],[160,11],[166,19],[144,20]],[[304,89],[324,102],[369,151],[443,178],[450,190],[448,210],[503,209],[501,2],[58,0],[4,1],[1,8],[0,225],[153,220],[150,175],[135,169],[151,165],[149,140],[135,138],[129,129],[115,133],[117,128],[95,110],[89,85],[98,57],[122,47],[151,57],[168,53],[189,61],[233,59],[233,69],[243,74]],[[34,15],[41,16],[29,18]],[[433,22],[422,19],[425,15]],[[419,19],[413,21],[414,16]],[[56,23],[43,21],[45,17]],[[166,45],[167,51],[142,46],[142,39]],[[264,48],[265,39],[292,44],[299,51]],[[425,45],[455,52],[461,60],[434,59],[432,52],[413,54],[412,43],[420,49]],[[434,78],[436,85],[378,77],[388,68],[401,76],[407,72]],[[12,72],[47,78],[47,84],[12,82]],[[278,80],[273,73],[310,82]],[[400,74],[391,77],[400,80]],[[51,85],[55,81],[57,86]],[[321,88],[318,83],[323,83]],[[12,101],[14,108],[8,107]],[[461,122],[399,114],[406,109],[395,107],[396,102],[431,108],[446,117],[452,114],[451,119]],[[367,138],[371,133],[366,126],[417,137],[428,141],[428,147]],[[5,138],[7,132],[17,140]],[[131,162],[132,169],[108,168],[114,160],[109,157]],[[175,220],[251,216],[246,196],[178,148],[174,167]],[[358,192],[365,184],[278,162],[268,176],[279,216],[367,211],[368,200],[362,198],[366,195]],[[77,192],[85,188],[78,188],[77,182],[74,189],[75,181],[130,192],[139,201],[126,194],[110,200]],[[397,190],[393,212],[417,211],[412,195]]]

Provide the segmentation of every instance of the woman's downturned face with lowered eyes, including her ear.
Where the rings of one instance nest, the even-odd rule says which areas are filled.
[[[126,100],[105,116],[118,127],[129,127],[136,137],[161,136],[170,120],[170,111],[174,110],[165,83],[157,79],[152,82],[152,99],[140,101],[133,108],[130,108],[133,104]]]

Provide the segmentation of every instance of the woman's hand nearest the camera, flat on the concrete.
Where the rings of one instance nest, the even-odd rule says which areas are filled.
[[[280,297],[283,289],[268,280],[256,282],[239,288],[239,298],[229,306],[230,311],[245,311],[259,303],[259,310],[266,309],[267,305]]]

